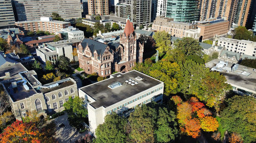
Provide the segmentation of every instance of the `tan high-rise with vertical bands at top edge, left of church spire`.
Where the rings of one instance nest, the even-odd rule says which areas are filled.
[[[109,15],[109,0],[88,0],[89,15]]]

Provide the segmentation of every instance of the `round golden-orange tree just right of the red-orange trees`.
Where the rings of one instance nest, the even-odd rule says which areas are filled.
[[[216,131],[219,127],[219,123],[216,118],[206,116],[201,120],[201,128],[206,132]]]

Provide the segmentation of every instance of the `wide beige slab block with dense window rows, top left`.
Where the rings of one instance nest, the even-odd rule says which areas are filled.
[[[81,18],[80,0],[14,0],[13,7],[17,20],[39,20],[40,17],[49,17],[53,12],[63,19]]]

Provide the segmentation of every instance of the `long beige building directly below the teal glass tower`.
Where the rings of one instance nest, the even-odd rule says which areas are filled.
[[[198,38],[199,31],[197,24],[174,21],[173,18],[157,16],[152,24],[152,30],[165,31],[174,37],[192,37]],[[192,31],[191,31],[192,30]],[[191,33],[191,36],[190,36]]]

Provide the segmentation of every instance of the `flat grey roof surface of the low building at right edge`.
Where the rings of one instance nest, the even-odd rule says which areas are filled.
[[[206,63],[205,66],[207,68],[215,67],[216,64],[219,63],[219,61],[221,60],[212,60]],[[228,63],[227,67],[231,67],[232,65],[232,63]],[[241,72],[244,71],[250,74],[248,76],[241,74]],[[238,70],[234,72],[227,72],[227,70],[222,70],[220,73],[222,73],[226,77],[228,83],[238,85],[239,87],[243,87],[245,89],[249,89],[256,92],[256,69],[255,71],[253,71],[253,68],[239,65]]]

